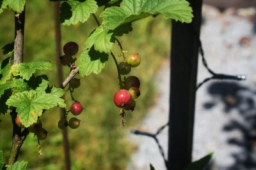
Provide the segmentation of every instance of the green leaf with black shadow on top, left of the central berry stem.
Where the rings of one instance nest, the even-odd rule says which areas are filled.
[[[104,68],[105,62],[108,60],[106,53],[99,53],[93,48],[81,53],[77,61],[79,73],[81,76],[88,76],[91,73],[99,74]]]

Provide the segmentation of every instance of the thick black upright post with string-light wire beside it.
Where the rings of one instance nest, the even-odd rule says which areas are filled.
[[[193,22],[172,22],[168,170],[182,170],[191,162],[202,0],[189,3]]]

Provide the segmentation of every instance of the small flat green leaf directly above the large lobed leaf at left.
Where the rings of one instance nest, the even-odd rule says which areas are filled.
[[[28,62],[20,63],[12,66],[12,73],[14,76],[22,76],[25,80],[29,80],[36,69],[51,69],[51,63],[49,61],[37,61],[37,62]]]

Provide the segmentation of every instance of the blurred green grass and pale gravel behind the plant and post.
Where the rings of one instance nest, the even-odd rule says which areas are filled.
[[[253,0],[204,2],[201,40],[209,67],[216,73],[245,74],[246,81],[213,80],[198,89],[193,160],[214,152],[207,169],[256,169],[256,3]],[[51,60],[55,64],[53,18],[53,4],[48,1],[29,1],[26,5],[25,62]],[[0,15],[0,46],[13,41],[13,22],[12,12],[6,10]],[[120,40],[124,50],[138,52],[141,56],[141,65],[130,73],[141,80],[136,110],[127,112],[127,124],[122,127],[119,110],[113,104],[118,80],[110,57],[102,73],[81,78],[81,87],[74,92],[75,99],[85,107],[79,115],[81,127],[68,129],[72,169],[146,170],[149,163],[156,169],[165,169],[154,140],[135,136],[130,131],[140,129],[154,133],[168,122],[171,24],[170,20],[158,16],[134,22],[132,26],[133,31]],[[81,53],[86,36],[95,27],[93,18],[86,24],[62,26],[62,44],[76,41]],[[115,45],[114,53],[119,52]],[[2,59],[3,55],[0,57]],[[56,85],[56,67],[47,74],[51,75],[52,85]],[[68,68],[65,68],[67,74]],[[199,57],[198,82],[209,76]],[[68,92],[65,97],[70,106]],[[29,169],[63,169],[59,118],[58,109],[42,116],[49,136],[41,142],[41,158],[37,154],[36,138],[29,134],[26,139],[19,160],[28,160]],[[0,131],[0,149],[8,158],[11,119],[3,115],[0,119],[0,129],[4,128]],[[168,128],[159,135],[165,152],[167,134]]]

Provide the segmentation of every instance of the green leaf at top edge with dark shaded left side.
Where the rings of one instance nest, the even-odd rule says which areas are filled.
[[[86,22],[91,13],[95,13],[98,6],[95,0],[68,0],[61,4],[60,21],[63,25]]]

